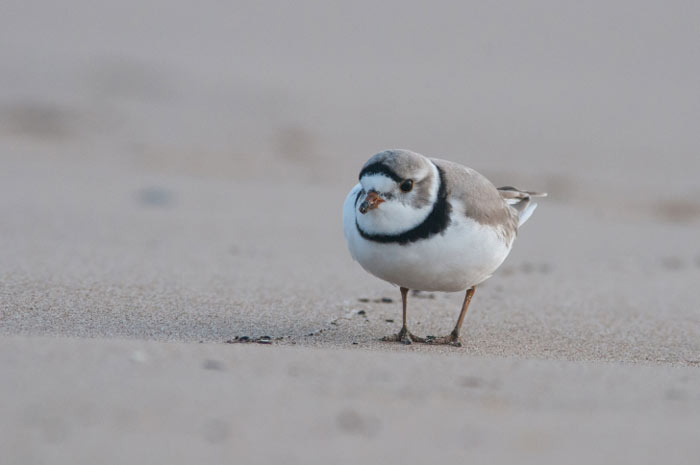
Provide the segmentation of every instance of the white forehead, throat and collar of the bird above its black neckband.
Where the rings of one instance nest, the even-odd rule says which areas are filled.
[[[432,162],[430,169],[433,171],[433,183],[430,186],[430,201],[425,206],[418,208],[410,202],[403,203],[398,198],[401,194],[397,194],[363,215],[357,209],[364,199],[364,196],[361,196],[355,206],[355,218],[360,228],[368,234],[396,235],[410,231],[425,221],[433,210],[440,190],[440,174]],[[363,176],[360,183],[365,193],[376,190],[381,195],[382,192],[396,189],[396,181],[380,173]],[[409,193],[407,200],[410,199],[410,195]]]

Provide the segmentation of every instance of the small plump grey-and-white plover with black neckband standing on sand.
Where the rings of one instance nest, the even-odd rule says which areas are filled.
[[[379,152],[362,166],[343,204],[343,232],[365,271],[399,286],[403,325],[385,341],[461,346],[476,286],[506,259],[536,197],[497,188],[477,171],[405,149]],[[465,292],[457,323],[443,337],[419,337],[406,321],[409,290]]]

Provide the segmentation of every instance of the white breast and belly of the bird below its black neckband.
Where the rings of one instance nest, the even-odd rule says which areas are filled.
[[[455,204],[442,234],[405,245],[364,239],[355,225],[355,198],[361,188],[356,185],[345,199],[343,230],[352,257],[380,279],[408,289],[463,291],[488,279],[510,253],[512,243]]]

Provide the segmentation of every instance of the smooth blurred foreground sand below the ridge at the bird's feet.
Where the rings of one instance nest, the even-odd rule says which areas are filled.
[[[688,463],[700,452],[697,369],[123,340],[0,347],[7,463]]]

